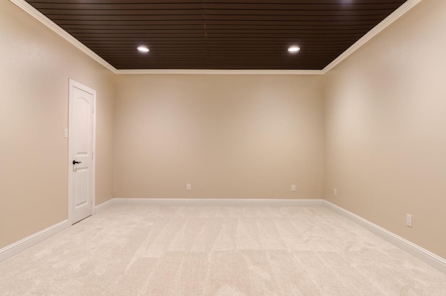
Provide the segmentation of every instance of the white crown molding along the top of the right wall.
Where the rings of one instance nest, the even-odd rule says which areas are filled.
[[[366,44],[371,38],[374,38],[380,31],[383,31],[387,26],[392,24],[392,22],[396,21],[407,13],[411,8],[413,8],[415,5],[420,3],[422,0],[408,0],[406,3],[403,3],[403,5],[399,6],[397,10],[395,10],[393,13],[391,13],[388,17],[383,19],[379,24],[377,24],[374,28],[372,28],[367,34],[362,36],[360,40],[357,40],[351,47],[348,47],[346,51],[344,51],[340,56],[335,58],[332,63],[328,64],[325,68],[322,69],[322,74],[327,73],[331,69],[333,69],[336,65],[341,63],[343,60],[345,60],[348,56],[353,54],[357,49],[362,47],[362,45]]]

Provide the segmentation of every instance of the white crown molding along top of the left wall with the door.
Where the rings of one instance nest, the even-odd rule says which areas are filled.
[[[73,44],[75,47],[80,49],[84,54],[87,56],[93,58],[96,62],[100,63],[100,65],[106,67],[110,71],[116,74],[116,68],[107,63],[103,58],[98,56],[98,54],[95,54],[91,49],[86,47],[84,44],[79,42],[76,38],[72,37],[72,35],[68,34],[63,28],[58,26],[56,23],[54,23],[51,19],[45,17],[40,11],[38,11],[36,8],[33,8],[31,4],[24,0],[9,0],[11,3],[15,4],[15,6],[22,9],[25,13],[28,13],[31,15],[31,17],[34,17],[37,19],[40,23],[44,24],[48,28],[50,28],[52,31],[60,35],[63,39],[67,40],[71,44]]]

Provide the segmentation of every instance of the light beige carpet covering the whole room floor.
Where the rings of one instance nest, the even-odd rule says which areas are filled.
[[[0,295],[446,295],[327,208],[112,206],[0,263]]]

